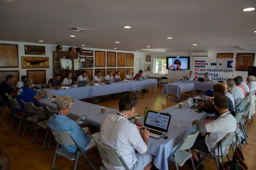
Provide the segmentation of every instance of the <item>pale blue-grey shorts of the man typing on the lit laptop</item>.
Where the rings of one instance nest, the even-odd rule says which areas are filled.
[[[149,153],[146,153],[146,154],[135,153],[135,156],[137,158],[137,161],[131,168],[134,170],[144,170],[145,167],[148,164],[150,164],[153,160],[153,156]]]

